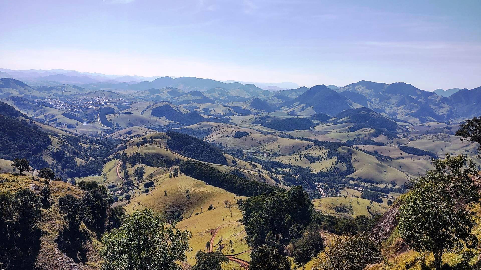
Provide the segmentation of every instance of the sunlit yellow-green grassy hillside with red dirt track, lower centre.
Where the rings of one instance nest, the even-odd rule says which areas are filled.
[[[244,240],[244,227],[237,222],[242,215],[236,207],[236,200],[239,198],[245,199],[245,197],[236,197],[221,188],[185,175],[169,178],[168,174],[165,173],[154,178],[153,181],[155,186],[151,192],[132,196],[130,204],[126,206],[127,213],[132,213],[137,209],[151,208],[166,219],[179,211],[184,220],[177,224],[177,228],[192,233],[190,246],[193,251],[188,253],[189,264],[195,264],[195,253],[199,250],[205,251],[206,242],[210,241],[218,227],[221,228],[214,239],[214,250],[223,245],[223,253],[231,254],[230,240],[234,242],[234,253],[249,250]],[[187,189],[190,199],[186,197]],[[165,196],[165,191],[167,191],[167,196]],[[231,208],[232,216],[229,209],[223,205],[224,200],[228,200],[234,205]],[[214,205],[215,209],[209,211],[208,208],[211,204]],[[199,214],[195,215],[196,213]],[[222,242],[219,245],[221,237]]]

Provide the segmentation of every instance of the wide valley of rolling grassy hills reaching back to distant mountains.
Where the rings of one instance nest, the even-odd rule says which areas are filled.
[[[198,251],[222,251],[224,270],[247,267],[256,241],[268,238],[253,238],[253,225],[245,221],[245,203],[257,197],[268,201],[302,187],[307,197],[299,201],[306,199],[313,217],[319,215],[327,241],[377,222],[434,160],[462,155],[481,166],[479,145],[455,135],[480,111],[451,105],[467,91],[481,95],[480,88],[442,97],[407,84],[365,81],[277,92],[187,77],[58,86],[0,81],[5,130],[38,138],[28,145],[27,138],[2,133],[13,146],[0,151],[2,177],[15,178],[7,183],[32,181],[10,166],[25,158],[33,177],[52,169],[52,187],[83,196],[78,183],[96,183],[112,197],[113,209],[128,216],[152,209],[191,233],[184,269],[196,264]],[[296,218],[307,230],[307,223],[300,225],[307,221]],[[42,245],[52,241],[41,239]],[[99,241],[88,245],[85,269],[101,263],[100,251],[90,247]],[[314,256],[300,263],[293,249],[286,244],[299,269],[314,267]]]

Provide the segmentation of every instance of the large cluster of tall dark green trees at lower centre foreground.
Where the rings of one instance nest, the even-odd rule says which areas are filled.
[[[377,220],[369,220],[364,215],[355,220],[338,219],[318,213],[301,186],[287,192],[249,197],[239,204],[246,240],[253,247],[251,258],[257,258],[257,252],[267,249],[280,255],[282,250],[290,249],[297,265],[316,257],[324,248],[321,231],[356,235],[369,231]]]

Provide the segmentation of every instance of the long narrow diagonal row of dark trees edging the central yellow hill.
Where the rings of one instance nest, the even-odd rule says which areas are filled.
[[[246,180],[228,172],[220,172],[219,170],[198,161],[182,161],[180,162],[179,168],[180,172],[183,172],[187,176],[223,188],[228,192],[240,196],[257,196],[263,193],[269,194],[275,191],[282,191],[282,189],[270,184]]]

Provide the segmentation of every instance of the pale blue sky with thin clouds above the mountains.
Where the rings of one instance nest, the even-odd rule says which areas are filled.
[[[0,2],[0,68],[481,86],[480,0]]]

